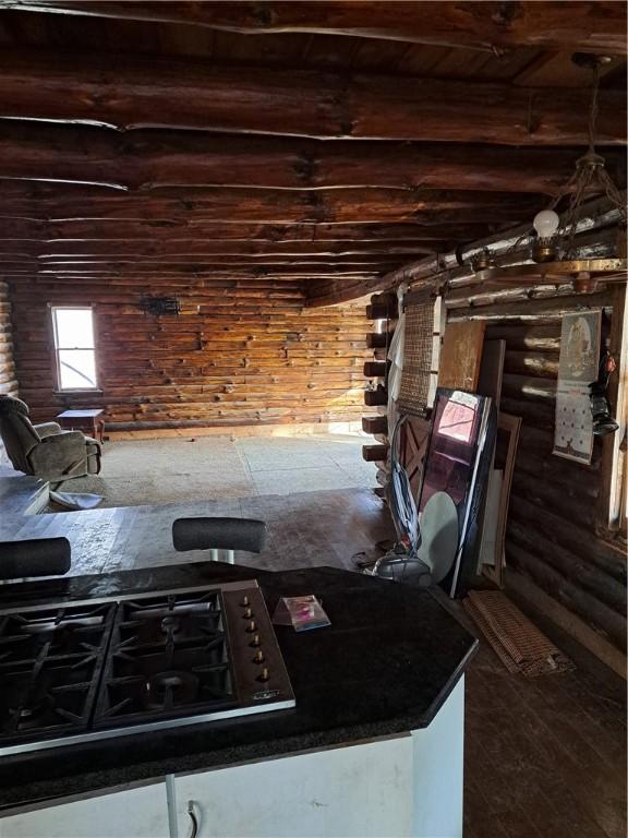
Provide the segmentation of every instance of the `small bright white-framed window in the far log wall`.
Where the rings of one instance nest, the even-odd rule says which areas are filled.
[[[94,313],[90,306],[52,306],[59,390],[97,390]]]

